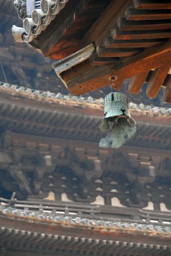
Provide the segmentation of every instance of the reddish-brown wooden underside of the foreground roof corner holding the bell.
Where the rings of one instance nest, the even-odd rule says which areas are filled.
[[[147,82],[147,96],[155,98],[166,86],[165,101],[170,102],[170,1],[74,1],[36,38],[45,56],[66,62],[94,45],[87,60],[57,73],[68,90],[73,95],[91,92],[110,84],[112,76],[120,88],[133,77],[130,93],[137,94]]]

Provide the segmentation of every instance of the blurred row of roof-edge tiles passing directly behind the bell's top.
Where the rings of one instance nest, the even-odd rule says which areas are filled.
[[[82,97],[72,95],[62,95],[61,93],[43,92],[40,90],[33,90],[31,88],[24,88],[16,84],[8,84],[0,82],[0,93],[19,95],[31,100],[39,102],[62,104],[63,106],[80,106],[80,108],[103,110],[104,99],[93,99],[93,97]],[[130,102],[130,111],[133,115],[146,115],[151,117],[170,118],[171,108],[160,108],[158,106],[145,106],[143,103],[135,104]]]

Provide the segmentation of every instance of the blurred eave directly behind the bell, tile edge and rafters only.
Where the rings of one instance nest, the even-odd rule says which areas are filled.
[[[2,129],[89,143],[97,143],[103,135],[98,129],[103,104],[98,100],[82,102],[79,97],[69,96],[57,99],[4,88],[1,88],[0,99]],[[137,121],[138,134],[127,145],[170,149],[170,109],[160,111],[149,107],[148,110],[143,105],[132,104],[130,111]]]

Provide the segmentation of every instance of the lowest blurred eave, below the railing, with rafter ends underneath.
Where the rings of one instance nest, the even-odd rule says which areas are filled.
[[[61,216],[61,220],[54,221],[56,214],[54,216],[49,214],[50,220],[40,220],[35,217],[41,216],[41,212],[36,214],[32,212],[32,214],[33,217],[0,213],[0,244],[3,244],[8,255],[11,253],[20,255],[18,253],[21,252],[32,252],[36,256],[42,253],[77,255],[78,252],[100,256],[108,256],[111,253],[125,255],[125,252],[128,256],[135,256],[137,253],[148,256],[158,253],[170,255],[170,232],[165,231],[165,228],[170,230],[170,227],[165,227],[166,225],[160,224],[154,227],[150,223],[144,225],[141,221],[131,223],[131,220],[127,222],[105,221],[105,219],[99,225],[98,220],[86,220],[86,218],[82,218],[85,223],[77,223],[74,218],[67,216]],[[111,222],[111,225],[105,222]]]

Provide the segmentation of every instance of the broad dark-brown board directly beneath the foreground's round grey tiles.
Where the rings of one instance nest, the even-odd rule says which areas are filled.
[[[80,39],[91,28],[109,2],[110,0],[68,1],[64,10],[38,36],[38,44],[43,54],[61,60],[81,49]]]

